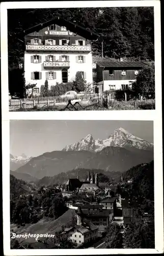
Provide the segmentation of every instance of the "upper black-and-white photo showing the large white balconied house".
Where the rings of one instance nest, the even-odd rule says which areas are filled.
[[[10,111],[154,110],[154,63],[153,6],[8,9]]]

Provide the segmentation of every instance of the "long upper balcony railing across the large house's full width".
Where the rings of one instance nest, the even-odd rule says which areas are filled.
[[[45,46],[45,45],[26,45],[26,51],[72,51],[72,52],[90,52],[91,46]]]

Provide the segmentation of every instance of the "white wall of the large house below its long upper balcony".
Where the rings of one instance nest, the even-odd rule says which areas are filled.
[[[36,63],[32,62],[33,56],[38,56]],[[53,56],[55,61],[46,61],[47,56]],[[69,61],[60,61],[61,56],[67,56]],[[84,63],[80,60],[80,57],[83,56]],[[82,63],[80,63],[82,62]],[[50,63],[50,64],[49,64]],[[51,64],[52,63],[52,64]],[[46,66],[47,65],[47,66]],[[53,65],[53,66],[52,66]],[[57,65],[57,66],[56,66]],[[67,66],[66,66],[67,65]],[[83,72],[85,80],[88,83],[92,83],[92,53],[91,52],[25,52],[24,54],[24,78],[26,85],[36,84],[36,88],[39,88],[41,85],[44,85],[45,80],[48,81],[49,89],[51,86],[55,86],[56,83],[62,83],[62,70],[68,70],[68,82],[72,82],[75,79],[76,72]],[[39,79],[34,79],[32,75],[34,72],[39,72]],[[53,72],[53,76],[46,73]]]

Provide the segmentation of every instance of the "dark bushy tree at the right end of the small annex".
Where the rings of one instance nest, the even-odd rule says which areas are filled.
[[[136,81],[132,82],[132,90],[137,95],[145,98],[155,97],[155,73],[154,65],[141,70],[136,77]]]

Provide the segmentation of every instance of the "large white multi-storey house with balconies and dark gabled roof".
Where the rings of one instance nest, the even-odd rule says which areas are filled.
[[[77,72],[93,82],[91,45],[97,34],[60,17],[23,32],[24,78],[26,85],[36,84],[33,95],[40,94],[45,80],[50,88],[57,82],[72,82]]]

